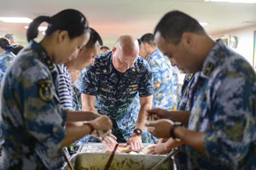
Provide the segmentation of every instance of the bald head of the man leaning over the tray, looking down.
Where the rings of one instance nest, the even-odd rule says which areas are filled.
[[[119,37],[113,48],[113,66],[119,72],[125,72],[134,64],[139,53],[137,39],[125,35]]]

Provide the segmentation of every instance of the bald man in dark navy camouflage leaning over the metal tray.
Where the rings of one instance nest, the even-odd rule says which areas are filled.
[[[78,87],[83,110],[109,116],[117,141],[131,144],[132,150],[142,148],[146,111],[152,107],[154,94],[149,65],[138,53],[136,39],[119,37],[112,51],[98,55],[94,65],[83,71]],[[134,103],[137,94],[139,113]]]

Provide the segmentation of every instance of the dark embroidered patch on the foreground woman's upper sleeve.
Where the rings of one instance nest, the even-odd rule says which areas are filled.
[[[48,102],[53,99],[54,91],[50,87],[51,81],[50,80],[41,80],[38,82],[38,93],[40,99]]]

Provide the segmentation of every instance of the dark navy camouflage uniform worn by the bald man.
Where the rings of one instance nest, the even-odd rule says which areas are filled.
[[[113,121],[113,134],[121,142],[131,138],[137,122],[135,97],[154,93],[152,73],[147,62],[138,57],[134,65],[122,74],[120,80],[113,68],[112,52],[100,54],[95,64],[82,71],[80,92],[96,96],[96,110]]]

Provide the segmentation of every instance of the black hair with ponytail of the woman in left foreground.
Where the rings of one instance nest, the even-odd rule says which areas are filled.
[[[88,21],[84,14],[75,9],[65,9],[51,17],[38,16],[34,19],[26,31],[26,39],[28,42],[38,37],[38,26],[44,21],[49,23],[45,31],[46,35],[61,30],[67,31],[68,37],[72,39],[81,36],[88,29]]]

